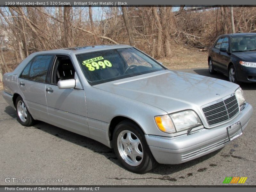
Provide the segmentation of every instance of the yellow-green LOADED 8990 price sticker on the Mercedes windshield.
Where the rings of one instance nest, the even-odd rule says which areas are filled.
[[[104,69],[106,67],[112,67],[112,64],[108,60],[104,60],[103,57],[95,57],[82,62],[89,71],[94,71],[95,69]]]

